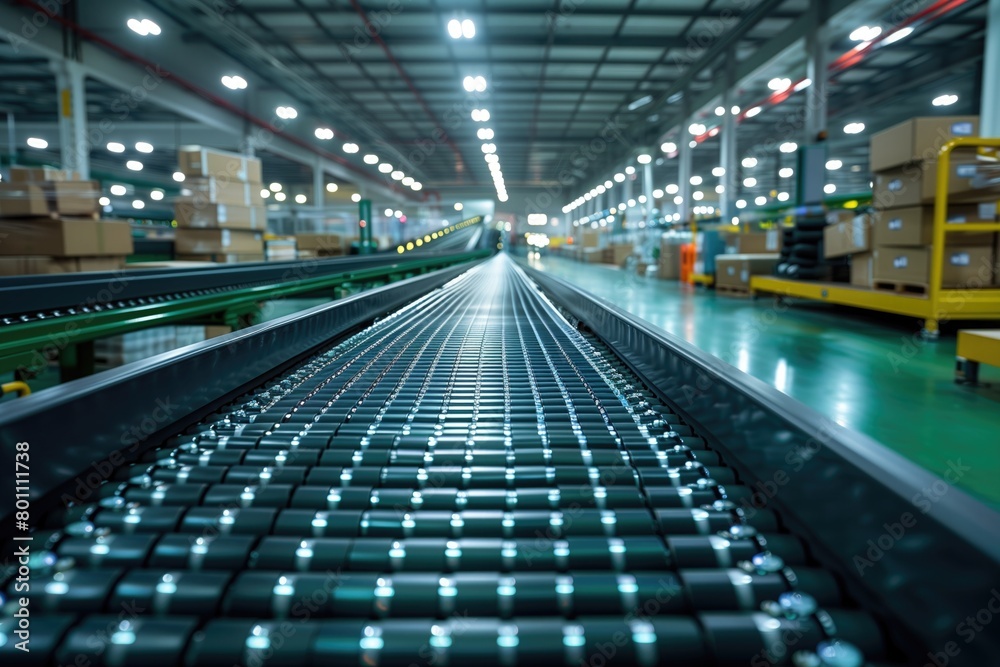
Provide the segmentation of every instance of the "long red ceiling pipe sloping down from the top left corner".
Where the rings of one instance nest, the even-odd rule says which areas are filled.
[[[199,86],[199,85],[197,85],[195,83],[192,83],[191,81],[188,81],[186,79],[183,79],[183,78],[177,76],[173,72],[170,72],[169,70],[164,69],[159,64],[154,63],[154,62],[149,61],[149,60],[146,60],[142,56],[140,56],[138,54],[135,54],[135,53],[129,51],[128,49],[122,48],[118,44],[115,44],[114,42],[112,42],[110,40],[107,40],[107,39],[101,37],[100,35],[98,35],[98,34],[96,34],[94,32],[91,32],[90,30],[87,30],[86,28],[84,28],[83,26],[79,25],[78,23],[70,21],[69,19],[67,19],[67,18],[65,18],[63,16],[61,16],[59,14],[56,14],[56,13],[53,13],[53,12],[49,11],[48,9],[46,9],[45,7],[42,7],[41,5],[39,5],[39,4],[35,3],[35,2],[32,2],[32,0],[15,0],[15,4],[23,5],[25,7],[29,7],[31,9],[37,11],[37,12],[43,13],[44,15],[48,16],[50,19],[52,19],[56,23],[59,23],[60,25],[66,27],[66,28],[69,28],[74,33],[76,33],[77,35],[79,35],[80,37],[82,37],[83,39],[85,39],[86,41],[92,42],[94,44],[97,44],[97,45],[99,45],[99,46],[107,49],[108,51],[111,51],[112,53],[115,53],[116,55],[118,55],[121,58],[123,58],[124,60],[126,60],[126,61],[128,61],[128,62],[130,62],[130,63],[132,63],[134,65],[136,65],[137,67],[140,67],[140,68],[143,68],[143,69],[147,69],[147,68],[151,69],[152,71],[154,71],[157,74],[157,76],[160,76],[160,77],[162,77],[164,79],[169,79],[175,85],[178,85],[181,88],[184,88],[185,90],[187,90],[187,91],[189,91],[191,93],[194,93],[195,95],[198,95],[199,97],[205,99],[206,101],[210,102],[211,104],[213,104],[213,105],[215,105],[215,106],[217,106],[217,107],[219,107],[221,109],[225,109],[229,113],[232,113],[232,114],[234,114],[236,116],[239,116],[240,118],[242,118],[242,119],[246,120],[247,122],[249,122],[251,125],[255,125],[256,127],[259,127],[261,129],[267,130],[268,132],[273,133],[275,136],[281,137],[282,139],[285,139],[286,141],[289,141],[289,142],[295,144],[296,146],[299,146],[300,148],[304,148],[307,151],[309,151],[309,152],[311,152],[311,153],[313,153],[315,155],[318,155],[318,156],[320,156],[322,158],[325,158],[327,160],[330,160],[332,162],[336,162],[338,164],[341,164],[344,167],[346,167],[347,169],[349,169],[350,171],[358,174],[360,177],[362,177],[362,178],[364,178],[364,179],[366,179],[368,181],[371,181],[372,183],[378,183],[378,184],[381,184],[383,186],[386,186],[390,190],[392,190],[392,191],[394,191],[396,193],[399,193],[399,194],[404,194],[404,195],[410,195],[411,194],[411,193],[409,193],[407,191],[404,191],[404,190],[401,190],[401,189],[397,188],[392,183],[385,183],[382,180],[373,177],[371,174],[369,174],[368,172],[364,171],[363,169],[360,169],[360,168],[356,167],[355,165],[353,165],[352,163],[350,163],[349,161],[347,161],[344,157],[342,157],[340,155],[337,155],[335,153],[330,153],[329,151],[325,151],[325,150],[323,150],[321,148],[317,148],[316,146],[313,146],[308,141],[306,141],[304,139],[301,139],[300,137],[297,137],[297,136],[292,135],[292,134],[285,133],[285,132],[283,132],[283,131],[275,128],[269,121],[264,120],[263,118],[259,118],[257,116],[254,116],[253,114],[248,113],[247,111],[244,111],[243,109],[241,109],[237,105],[233,104],[232,102],[226,100],[225,98],[219,97],[215,93],[212,93],[212,92],[210,92],[208,90],[205,90],[201,86]],[[346,135],[341,134],[339,136],[341,138],[343,138],[344,140],[347,140],[347,141],[350,140],[349,137],[347,137]],[[428,196],[428,192],[427,191],[423,191],[421,193],[421,199],[427,199],[427,196]]]

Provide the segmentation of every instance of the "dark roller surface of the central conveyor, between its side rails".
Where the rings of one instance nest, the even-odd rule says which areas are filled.
[[[7,619],[0,658],[885,664],[749,493],[498,257],[47,517],[32,653]]]

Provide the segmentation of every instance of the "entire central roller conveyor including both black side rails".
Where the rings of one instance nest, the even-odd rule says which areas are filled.
[[[21,399],[0,436],[37,461],[5,665],[916,664],[998,571],[953,489],[852,574],[929,475],[503,255]]]

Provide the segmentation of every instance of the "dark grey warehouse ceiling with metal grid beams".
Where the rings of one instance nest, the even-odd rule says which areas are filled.
[[[26,16],[35,10],[27,0],[15,4]],[[842,9],[829,24],[833,60],[856,45],[848,35],[858,26],[888,30],[936,3],[830,4]],[[832,178],[843,188],[867,184],[866,168],[849,167],[864,165],[871,130],[914,113],[976,112],[985,2],[950,4],[954,9],[943,18],[876,51],[831,83],[830,147],[843,155],[846,167]],[[672,128],[677,140],[689,138],[679,123],[691,102],[675,91],[686,89],[691,100],[710,96],[719,89],[727,53],[739,63],[761,59],[736,94],[744,109],[768,98],[772,78],[804,77],[801,41],[796,49],[777,51],[777,57],[764,56],[774,44],[792,45],[801,37],[789,33],[809,11],[808,0],[75,0],[64,6],[65,20],[57,22],[66,32],[68,53],[78,50],[84,62],[87,48],[134,58],[137,80],[140,60],[156,63],[206,99],[242,111],[229,135],[215,134],[223,147],[235,147],[241,134],[250,132],[247,117],[271,122],[275,108],[287,105],[298,116],[283,132],[333,154],[360,184],[398,186],[363,162],[365,154],[374,153],[445,197],[491,194],[482,145],[492,143],[509,190],[555,187],[565,201],[603,181],[638,151],[670,138]],[[152,18],[161,34],[135,34],[126,27],[132,17]],[[449,22],[465,19],[474,24],[475,35],[449,36]],[[694,67],[699,63],[705,67]],[[234,74],[249,82],[246,90],[220,83]],[[484,78],[485,90],[465,90],[465,77],[477,76]],[[30,48],[3,46],[0,77],[0,107],[30,124],[56,119],[56,87],[46,58]],[[91,124],[116,117],[121,91],[88,79]],[[932,107],[930,100],[940,91],[957,94],[959,103]],[[189,131],[186,110],[160,92],[151,91],[149,101],[136,103],[117,126],[139,134],[146,127],[151,141],[169,147],[149,158],[150,178],[169,177],[172,149],[200,138]],[[712,125],[719,100],[708,99],[692,111]],[[740,153],[758,151],[787,134],[788,119],[801,119],[806,99],[792,95],[743,122]],[[488,110],[490,120],[473,120],[476,109]],[[846,122],[864,122],[869,131],[845,135]],[[331,128],[334,139],[316,138],[319,127]],[[794,123],[791,127],[801,134]],[[493,139],[479,138],[486,128]],[[608,141],[599,153],[578,159],[602,137]],[[345,153],[345,142],[358,144],[359,152]],[[718,146],[718,139],[710,138],[697,148],[696,173],[718,164]],[[267,153],[268,147],[261,150]],[[772,153],[762,157],[773,158],[776,179],[779,161],[788,156]],[[655,155],[657,178],[675,178],[676,160],[658,150]],[[96,163],[113,170],[116,159],[94,147]],[[268,179],[311,180],[309,167],[287,156],[268,153],[265,165]],[[560,175],[574,182],[560,183]],[[764,180],[761,187],[772,187]]]

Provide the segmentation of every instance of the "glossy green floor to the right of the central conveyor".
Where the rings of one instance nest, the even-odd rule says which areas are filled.
[[[677,281],[542,256],[551,272],[742,371],[1000,508],[1000,369],[989,388],[956,385],[955,335],[925,342],[916,320],[770,298],[716,296]]]

